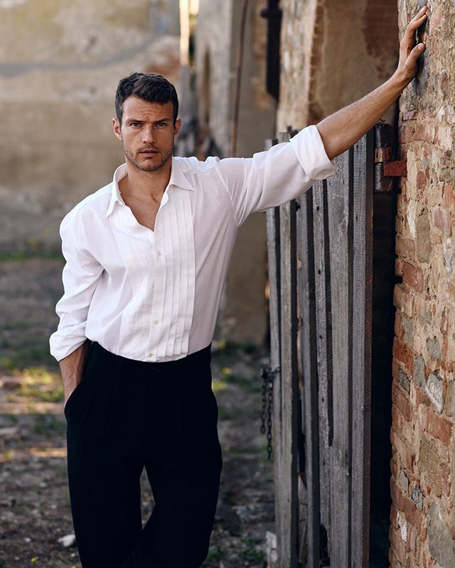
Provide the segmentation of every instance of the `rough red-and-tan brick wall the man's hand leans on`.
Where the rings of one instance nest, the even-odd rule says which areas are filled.
[[[399,2],[401,34],[415,4]],[[392,568],[455,566],[454,28],[454,2],[430,2],[427,51],[400,98],[408,173],[396,218]]]

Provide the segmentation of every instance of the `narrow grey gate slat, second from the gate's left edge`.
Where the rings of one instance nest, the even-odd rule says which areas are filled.
[[[282,134],[280,141],[289,140]],[[280,568],[297,562],[297,428],[298,376],[296,360],[296,202],[279,208],[281,260],[281,409],[282,409],[282,518],[277,530]]]

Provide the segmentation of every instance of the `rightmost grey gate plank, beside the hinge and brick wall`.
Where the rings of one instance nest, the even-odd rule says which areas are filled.
[[[373,296],[374,130],[353,148],[353,446],[351,562],[368,568]]]

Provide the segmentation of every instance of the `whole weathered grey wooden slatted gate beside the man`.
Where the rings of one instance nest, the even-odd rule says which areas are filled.
[[[279,568],[368,567],[373,191],[390,132],[267,211]]]

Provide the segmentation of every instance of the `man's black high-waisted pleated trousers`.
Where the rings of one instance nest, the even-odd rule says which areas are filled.
[[[223,466],[210,347],[147,363],[92,343],[65,404],[83,568],[198,568],[207,557]],[[144,467],[155,505],[143,528]]]

